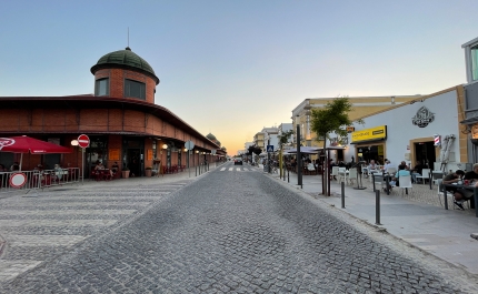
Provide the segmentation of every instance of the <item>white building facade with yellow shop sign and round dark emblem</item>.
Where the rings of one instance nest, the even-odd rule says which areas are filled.
[[[368,115],[365,124],[355,124],[349,133],[345,161],[382,164],[388,159],[394,165],[406,161],[415,166],[420,161],[436,170],[469,169],[467,134],[460,124],[462,104],[464,87],[457,85]],[[438,143],[447,138],[451,138],[448,163],[441,165],[444,150]]]

